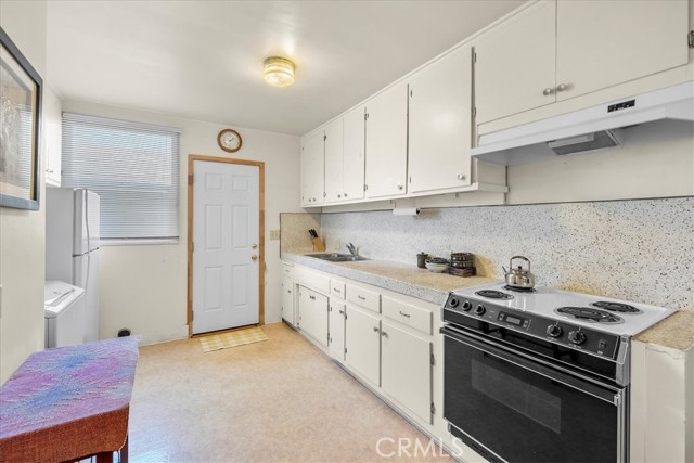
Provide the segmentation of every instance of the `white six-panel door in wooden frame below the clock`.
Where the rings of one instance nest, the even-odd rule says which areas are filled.
[[[194,162],[194,334],[260,320],[259,170]]]

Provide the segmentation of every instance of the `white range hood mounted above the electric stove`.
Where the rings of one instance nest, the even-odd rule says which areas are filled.
[[[480,136],[472,155],[516,165],[680,137],[694,137],[692,81]]]

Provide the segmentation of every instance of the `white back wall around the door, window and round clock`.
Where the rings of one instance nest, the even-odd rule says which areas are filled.
[[[180,138],[180,242],[177,245],[103,247],[100,261],[100,336],[113,337],[121,327],[141,334],[144,344],[188,336],[187,215],[188,156],[231,157],[217,145],[217,133],[228,126],[181,119],[164,114],[66,101],[66,112],[178,127]],[[266,292],[265,321],[281,321],[280,242],[270,230],[280,229],[280,213],[299,211],[299,139],[294,136],[236,128],[243,147],[234,158],[265,162]]]

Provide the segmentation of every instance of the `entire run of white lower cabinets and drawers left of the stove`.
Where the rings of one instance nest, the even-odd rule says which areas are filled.
[[[288,285],[295,288],[300,333],[409,420],[447,436],[435,411],[442,399],[438,305],[303,266],[286,267],[283,282],[283,310]]]

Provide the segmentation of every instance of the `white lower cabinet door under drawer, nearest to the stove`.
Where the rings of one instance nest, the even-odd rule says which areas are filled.
[[[432,342],[381,322],[381,387],[427,423],[432,422]]]

